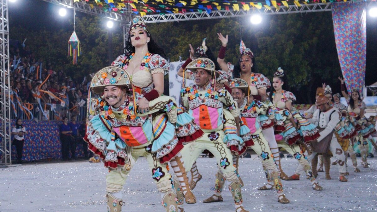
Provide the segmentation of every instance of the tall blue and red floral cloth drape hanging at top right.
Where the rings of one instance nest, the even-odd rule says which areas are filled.
[[[332,3],[336,49],[348,93],[362,93],[366,61],[365,2]]]

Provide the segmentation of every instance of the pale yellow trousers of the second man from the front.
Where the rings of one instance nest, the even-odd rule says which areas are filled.
[[[208,136],[211,136],[211,139]],[[236,171],[236,168],[233,166],[233,156],[230,149],[226,144],[224,144],[223,138],[224,132],[221,130],[211,133],[205,133],[201,138],[184,145],[181,154],[185,164],[186,172],[190,171],[193,163],[196,161],[196,159],[198,159],[199,155],[205,149],[207,149],[215,156],[216,161],[220,166],[221,172],[224,173],[224,177],[229,182],[238,179],[236,173],[234,172]],[[224,165],[225,167],[222,165]]]

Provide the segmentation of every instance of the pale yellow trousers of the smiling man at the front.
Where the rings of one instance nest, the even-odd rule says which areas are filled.
[[[143,148],[132,148],[131,155],[133,160],[137,160],[139,157],[145,157],[148,161],[148,166],[150,169],[150,177],[152,178],[153,172],[152,170],[156,170],[163,173],[157,178],[153,178],[153,181],[157,184],[157,188],[161,192],[167,192],[172,189],[172,182],[170,181],[171,175],[166,169],[166,163],[161,164],[159,162],[159,159],[154,159],[152,157],[152,154],[150,152],[147,152],[145,147]],[[109,172],[109,174],[106,175],[106,191],[107,192],[118,192],[122,190],[124,183],[126,183],[127,175],[129,174],[131,170],[124,170],[118,168],[114,169]]]

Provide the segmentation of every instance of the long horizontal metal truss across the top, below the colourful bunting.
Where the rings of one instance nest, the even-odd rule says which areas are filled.
[[[155,14],[155,15],[144,15],[142,19],[146,23],[162,23],[162,22],[180,22],[180,21],[190,21],[190,20],[202,20],[202,19],[215,19],[215,18],[228,18],[228,17],[242,17],[252,14],[291,14],[291,13],[305,13],[305,12],[323,12],[331,11],[331,3],[310,3],[301,4],[300,7],[296,5],[278,6],[271,9],[262,7],[261,9],[250,8],[249,11],[244,11],[240,9],[239,11],[233,10],[213,10],[210,14],[207,11],[200,12],[185,12],[185,13],[172,13],[172,14]]]

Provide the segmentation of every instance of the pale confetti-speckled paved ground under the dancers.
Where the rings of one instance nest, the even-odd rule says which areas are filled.
[[[360,158],[357,158],[360,161]],[[360,161],[361,162],[361,161]],[[333,180],[325,180],[320,172],[319,182],[323,191],[311,189],[309,180],[283,181],[290,204],[277,203],[273,190],[258,191],[265,183],[261,163],[255,155],[240,160],[240,174],[245,186],[242,189],[244,207],[250,211],[331,211],[377,210],[377,159],[368,158],[371,167],[361,173],[352,170],[347,183],[338,180],[336,167],[331,168]],[[294,159],[282,159],[285,172],[293,174]],[[351,160],[348,160],[351,165]],[[212,194],[216,162],[211,158],[199,158],[198,168],[203,179],[194,193],[196,204],[185,204],[185,211],[234,211],[230,192],[223,192],[224,202],[202,203]],[[103,163],[87,161],[66,163],[26,164],[0,169],[0,211],[105,211],[105,175]],[[123,190],[126,206],[123,211],[164,211],[161,195],[156,189],[147,162],[140,158],[129,175]]]

